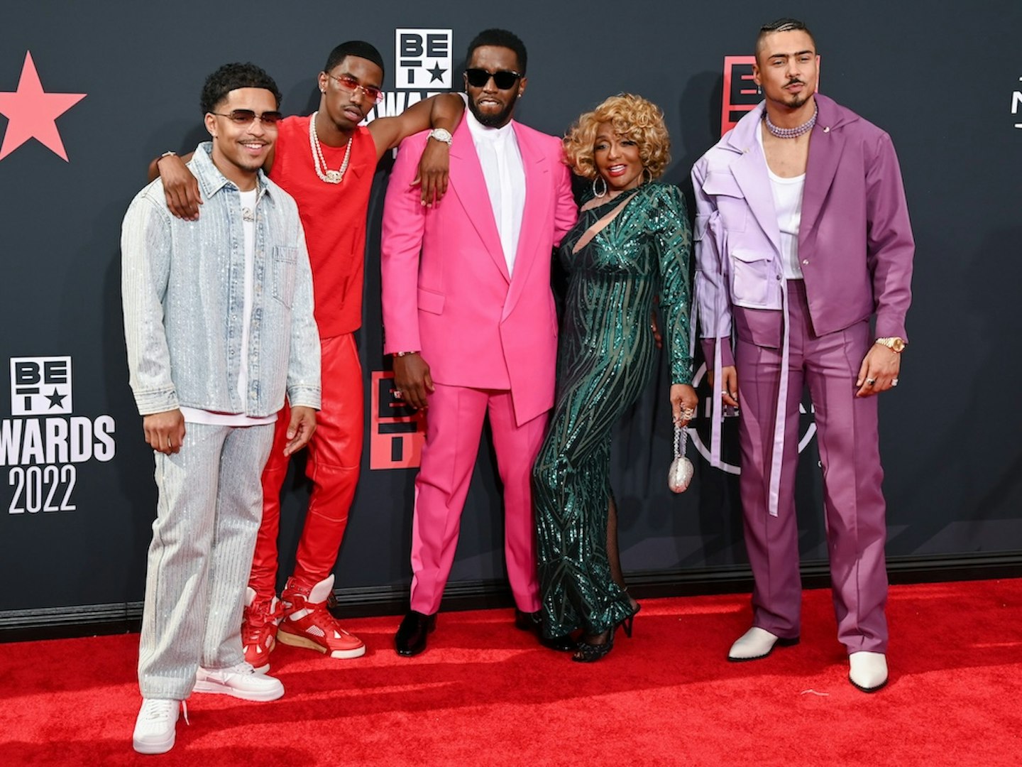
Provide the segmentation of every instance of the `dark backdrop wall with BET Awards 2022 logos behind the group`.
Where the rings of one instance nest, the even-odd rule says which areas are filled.
[[[522,122],[561,134],[606,95],[641,93],[666,114],[675,157],[666,181],[685,189],[692,164],[721,134],[722,112],[740,115],[754,99],[741,92],[744,59],[726,65],[726,57],[750,53],[758,25],[783,14],[814,30],[822,90],[890,132],[917,237],[912,345],[901,386],[881,404],[891,567],[1022,562],[1017,3],[973,2],[963,14],[950,0],[934,0],[925,12],[877,0],[375,7],[249,0],[243,8],[37,0],[7,3],[0,25],[0,363],[10,365],[10,376],[0,376],[9,377],[0,385],[0,627],[138,614],[155,491],[127,382],[120,225],[148,161],[202,139],[206,74],[253,60],[277,79],[284,110],[307,114],[327,52],[363,38],[388,62],[381,112],[392,114],[423,95],[426,70],[437,62],[445,72],[433,87],[457,86],[472,35],[503,26],[529,49]],[[410,59],[417,63],[399,63]],[[391,409],[373,396],[381,391],[374,376],[386,366],[378,276],[385,183],[382,168],[360,333],[373,405],[337,565],[341,597],[360,610],[400,606],[410,575],[414,470],[400,466],[414,462],[416,437],[400,430],[415,423],[381,430],[378,414]],[[639,581],[708,588],[744,573],[735,475],[699,458],[693,488],[681,497],[666,491],[662,373],[616,434],[622,557]],[[811,414],[803,420],[799,515],[811,570],[826,548]],[[697,431],[705,425],[702,416]],[[284,570],[305,493],[300,480],[289,485]],[[452,594],[498,593],[499,497],[483,450]]]

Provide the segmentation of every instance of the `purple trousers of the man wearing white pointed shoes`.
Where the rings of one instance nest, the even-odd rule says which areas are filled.
[[[837,635],[848,652],[887,651],[885,504],[877,398],[856,398],[855,379],[872,346],[869,322],[818,336],[805,286],[788,281],[789,381],[778,515],[769,511],[770,466],[781,384],[782,313],[734,308],[737,335],[741,494],[745,545],[755,587],[752,625],[799,635],[801,580],[795,518],[798,405],[808,385],[824,472],[827,548]]]

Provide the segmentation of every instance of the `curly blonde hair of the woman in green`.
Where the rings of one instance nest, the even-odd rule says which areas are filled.
[[[564,137],[564,162],[577,175],[595,179],[593,161],[596,133],[603,123],[610,123],[614,133],[625,136],[639,146],[639,157],[653,178],[663,175],[670,162],[670,135],[663,124],[663,111],[652,101],[632,93],[620,93],[582,115]]]

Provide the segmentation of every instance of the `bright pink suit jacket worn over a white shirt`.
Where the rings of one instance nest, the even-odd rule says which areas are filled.
[[[432,208],[411,186],[428,133],[402,142],[386,192],[380,269],[384,353],[421,351],[437,384],[510,390],[521,425],[553,406],[550,265],[577,208],[560,140],[512,126],[525,171],[513,273],[464,118],[454,132],[448,193]]]

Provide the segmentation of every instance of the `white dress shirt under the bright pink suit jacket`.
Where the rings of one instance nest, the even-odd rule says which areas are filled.
[[[508,274],[512,274],[522,212],[525,210],[525,167],[521,162],[518,139],[511,123],[502,128],[486,128],[469,109],[465,110],[465,120],[468,121],[468,130],[486,180]]]

